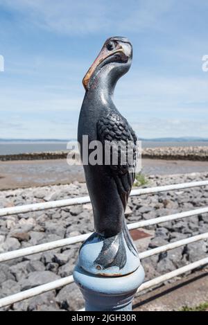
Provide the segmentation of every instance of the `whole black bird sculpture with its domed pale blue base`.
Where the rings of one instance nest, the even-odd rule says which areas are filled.
[[[137,137],[112,99],[116,82],[128,72],[131,62],[129,40],[110,37],[83,78],[86,93],[78,123],[78,143],[92,201],[95,232],[80,248],[79,259],[83,269],[93,274],[128,274],[140,265],[124,216],[135,180]],[[86,146],[89,146],[89,158],[93,152],[92,141],[103,144],[97,151],[103,157],[102,164],[90,164],[89,159],[86,163]],[[118,151],[118,164],[112,161],[114,149],[110,164],[105,164],[106,141],[123,143]],[[126,155],[128,143],[131,143],[132,161],[123,164],[121,156]]]

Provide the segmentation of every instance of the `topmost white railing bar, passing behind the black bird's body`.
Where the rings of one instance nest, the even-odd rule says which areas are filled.
[[[137,190],[131,191],[130,196],[161,193],[165,191],[173,191],[173,190],[180,190],[184,188],[192,188],[192,187],[207,186],[207,185],[208,185],[208,181],[200,181],[200,182],[189,182],[189,183],[173,184],[173,185],[166,185],[166,186],[157,186],[151,188],[139,188]],[[46,209],[57,209],[57,208],[69,207],[71,205],[85,204],[89,202],[90,202],[90,198],[89,196],[86,196],[86,197],[73,197],[67,200],[57,200],[51,202],[26,204],[18,207],[0,209],[0,217],[12,216],[18,213],[28,213],[28,212],[35,212],[35,211],[43,211]]]

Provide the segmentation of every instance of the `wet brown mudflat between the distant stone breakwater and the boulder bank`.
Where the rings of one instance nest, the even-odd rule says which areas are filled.
[[[143,159],[142,173],[146,175],[173,175],[203,173],[208,161]],[[33,161],[0,161],[0,190],[84,182],[82,166],[69,166],[66,159]]]

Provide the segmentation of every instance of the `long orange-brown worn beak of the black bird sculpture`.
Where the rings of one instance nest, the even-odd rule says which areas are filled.
[[[119,45],[114,51],[107,51],[106,46],[103,46],[103,49],[98,54],[98,57],[96,58],[96,60],[94,60],[92,66],[89,68],[89,70],[85,74],[85,77],[83,78],[83,86],[85,87],[85,90],[87,90],[89,80],[92,77],[94,71],[96,70],[96,67],[98,67],[98,65],[101,64],[105,59],[109,58],[115,53],[123,53],[125,55],[121,45]]]

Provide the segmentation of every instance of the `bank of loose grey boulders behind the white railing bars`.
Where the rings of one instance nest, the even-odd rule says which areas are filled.
[[[208,179],[208,173],[189,175],[152,175],[148,186],[162,186]],[[88,195],[86,184],[74,182],[69,185],[42,186],[0,192],[0,207],[13,207],[48,200]],[[130,197],[125,217],[128,222],[168,216],[180,211],[197,209],[208,205],[208,188],[187,188],[153,195]],[[208,231],[208,213],[172,222],[153,225],[153,238],[148,249],[182,240],[193,234]],[[92,204],[62,209],[26,213],[0,220],[0,252],[39,245],[62,238],[87,234],[94,230]],[[139,240],[138,240],[139,241]],[[33,288],[43,283],[69,276],[76,264],[81,243],[61,249],[18,258],[1,264],[0,297]],[[142,261],[146,279],[175,270],[207,256],[208,244],[200,240],[186,247],[146,258]],[[83,297],[73,283],[60,290],[21,301],[12,310],[78,310],[83,308]],[[10,310],[6,308],[6,310]]]

